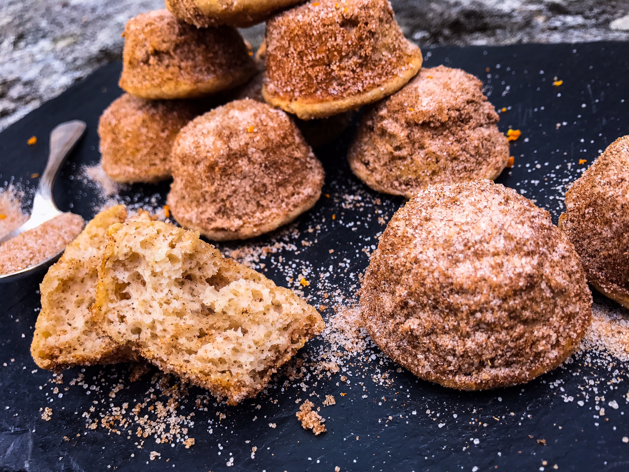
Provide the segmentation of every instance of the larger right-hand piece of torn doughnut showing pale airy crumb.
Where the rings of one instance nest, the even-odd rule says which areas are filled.
[[[92,313],[114,341],[230,405],[325,328],[291,290],[164,222],[109,228]]]

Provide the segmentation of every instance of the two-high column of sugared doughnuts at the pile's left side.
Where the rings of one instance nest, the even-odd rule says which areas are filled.
[[[250,48],[231,26],[198,28],[162,9],[126,24],[120,87],[99,123],[103,170],[120,183],[167,179],[170,148],[201,98],[255,74]]]

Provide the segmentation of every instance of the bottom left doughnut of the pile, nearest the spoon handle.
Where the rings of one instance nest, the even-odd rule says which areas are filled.
[[[103,171],[116,182],[154,183],[170,177],[170,148],[198,115],[189,101],[149,101],[123,94],[98,123]]]

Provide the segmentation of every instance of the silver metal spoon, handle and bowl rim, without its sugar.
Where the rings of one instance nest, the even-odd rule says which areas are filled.
[[[84,121],[72,120],[61,123],[50,132],[50,154],[48,154],[46,169],[43,171],[42,179],[35,192],[35,198],[33,198],[33,211],[31,211],[31,216],[21,227],[14,229],[1,238],[0,244],[16,237],[20,233],[36,228],[48,220],[52,220],[55,216],[61,215],[62,212],[59,211],[57,205],[55,205],[55,201],[52,199],[52,187],[61,164],[85,132],[86,126]],[[0,282],[12,282],[38,269],[48,267],[53,264],[53,262],[57,261],[63,252],[64,249],[35,266],[27,267],[26,269],[11,274],[0,275]]]

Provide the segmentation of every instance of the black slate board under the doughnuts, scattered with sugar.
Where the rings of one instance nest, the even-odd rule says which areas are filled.
[[[499,127],[503,132],[509,127],[520,129],[522,136],[511,147],[516,166],[504,172],[498,181],[535,199],[551,212],[555,222],[562,209],[562,186],[576,179],[579,169],[591,163],[599,149],[629,132],[625,102],[629,44],[436,48],[424,53],[425,67],[461,67],[482,79],[497,109],[508,108],[501,113]],[[87,135],[63,167],[54,196],[62,210],[91,218],[96,195],[75,177],[81,164],[99,159],[97,120],[121,93],[116,85],[119,73],[119,63],[97,70],[0,133],[0,185],[13,181],[33,189],[36,181],[30,175],[43,170],[50,130],[61,121],[84,120]],[[564,81],[562,86],[553,86],[554,76]],[[317,150],[327,175],[324,193],[331,196],[322,198],[295,225],[301,237],[306,237],[309,226],[321,223],[317,244],[300,248],[299,256],[294,254],[296,250],[277,253],[289,263],[311,264],[315,268],[313,279],[322,267],[337,267],[345,256],[349,259],[348,271],[364,271],[367,255],[356,248],[364,247],[365,241],[383,228],[377,215],[373,216],[374,207],[382,211],[382,216],[390,217],[404,203],[403,199],[366,189],[352,176],[344,159],[352,132],[345,132],[335,145]],[[38,137],[33,147],[26,145],[31,135]],[[587,164],[577,164],[579,159],[587,159]],[[556,166],[560,167],[555,169]],[[163,203],[168,186],[134,186],[125,194],[130,202],[155,196]],[[347,203],[344,194],[360,194],[366,206],[343,208],[343,201]],[[380,205],[373,203],[376,198],[381,199]],[[367,213],[371,216],[367,217]],[[331,214],[340,216],[331,220]],[[353,220],[360,224],[348,225]],[[281,235],[280,232],[274,236]],[[259,242],[264,242],[264,238]],[[223,245],[221,249],[234,247],[238,245]],[[336,250],[335,254],[328,252],[330,248]],[[278,267],[269,264],[266,274],[286,286],[286,269]],[[338,279],[338,287],[349,295],[357,282],[343,274],[334,269],[330,277]],[[338,373],[329,381],[320,381],[316,388],[309,386],[306,392],[297,385],[301,380],[292,382],[282,392],[285,379],[281,378],[269,386],[268,397],[260,395],[237,407],[210,404],[208,411],[201,411],[194,408],[194,400],[183,400],[181,412],[195,412],[195,424],[189,432],[195,438],[194,446],[186,449],[181,442],[175,446],[155,444],[149,437],[138,449],[135,434],[131,435],[133,439],[126,439],[126,434],[111,434],[101,427],[86,429],[81,412],[96,402],[93,415],[97,417],[99,409],[109,402],[121,405],[143,398],[150,388],[150,376],[136,383],[126,382],[116,398],[110,398],[108,393],[116,379],[126,378],[126,366],[87,368],[87,379],[99,376],[99,372],[103,377],[102,382],[98,379],[100,388],[92,395],[86,395],[88,390],[80,387],[64,391],[67,380],[81,370],[71,369],[65,373],[64,385],[58,385],[65,392],[63,398],[58,398],[52,393],[57,385],[50,383],[51,374],[36,370],[29,347],[40,308],[36,292],[40,280],[41,275],[0,285],[2,470],[333,471],[338,466],[343,471],[537,471],[554,470],[557,464],[559,470],[621,471],[629,467],[629,444],[621,440],[629,435],[629,415],[625,414],[628,376],[620,362],[605,361],[604,356],[593,356],[589,362],[586,356],[576,356],[571,364],[527,385],[479,393],[418,381],[406,371],[398,373],[397,366],[386,359],[383,365],[374,362],[375,367],[354,373],[350,385],[338,386],[342,374]],[[317,291],[316,283],[304,288],[315,305],[323,303]],[[315,340],[304,349],[313,352],[320,343]],[[376,354],[379,352],[374,349]],[[392,385],[386,387],[369,379],[375,369],[388,373]],[[367,378],[362,379],[360,375],[364,373]],[[594,383],[589,384],[589,380]],[[364,386],[359,385],[361,381]],[[594,393],[594,388],[598,393]],[[322,398],[308,396],[311,391],[337,398],[336,405],[322,409],[328,417],[328,432],[318,437],[303,430],[294,417],[298,408],[294,398],[298,394],[303,399],[315,398],[315,403],[321,404]],[[203,393],[197,388],[190,392],[192,399]],[[588,401],[579,407],[577,401],[584,399],[584,392]],[[604,395],[604,401],[596,401],[594,395]],[[269,401],[271,396],[277,403]],[[608,406],[613,401],[618,408]],[[261,405],[259,409],[255,408],[257,404]],[[594,405],[605,407],[606,415],[596,414]],[[40,408],[46,406],[53,409],[48,422],[40,418]],[[430,414],[426,413],[428,409]],[[220,425],[218,412],[226,414]],[[254,416],[259,420],[252,421]],[[270,422],[277,427],[270,428]],[[440,423],[445,425],[438,427]],[[69,441],[64,441],[64,436]],[[478,439],[477,444],[472,439]],[[537,439],[545,439],[545,446],[538,444]],[[252,446],[257,447],[253,459]],[[150,451],[161,456],[150,461]],[[226,464],[230,454],[232,466]]]

